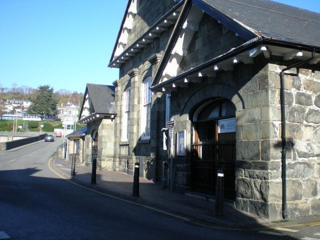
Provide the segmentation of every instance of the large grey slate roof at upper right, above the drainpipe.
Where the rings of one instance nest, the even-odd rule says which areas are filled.
[[[199,0],[262,37],[320,46],[320,13],[270,0]]]

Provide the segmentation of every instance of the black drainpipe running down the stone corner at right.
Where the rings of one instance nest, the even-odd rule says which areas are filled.
[[[284,108],[284,75],[290,76],[298,76],[299,68],[298,66],[307,63],[308,61],[314,58],[314,48],[312,48],[312,55],[310,58],[305,59],[303,61],[299,61],[294,63],[288,67],[285,67],[280,72],[280,106],[281,106],[281,143],[282,143],[282,151],[281,151],[281,178],[282,178],[282,218],[285,219],[287,217],[286,214],[286,139],[285,139],[285,108]],[[296,73],[286,73],[284,71],[293,68],[296,68]]]

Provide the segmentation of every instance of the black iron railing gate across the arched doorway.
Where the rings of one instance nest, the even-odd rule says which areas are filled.
[[[235,140],[206,140],[191,144],[191,188],[215,194],[216,172],[224,172],[224,195],[235,197]]]

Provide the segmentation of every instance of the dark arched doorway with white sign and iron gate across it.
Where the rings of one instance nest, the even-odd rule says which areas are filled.
[[[235,197],[235,106],[228,99],[210,100],[193,113],[191,188],[215,194],[218,169],[224,172],[224,195]]]

